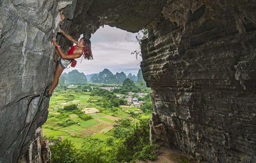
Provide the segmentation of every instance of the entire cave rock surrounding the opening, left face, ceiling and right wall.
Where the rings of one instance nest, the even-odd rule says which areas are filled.
[[[152,88],[152,141],[198,162],[256,162],[255,8],[249,0],[0,1],[0,162],[17,162],[47,119],[49,99],[37,104],[51,85],[59,24],[74,38],[104,24],[147,27],[141,70]],[[72,45],[57,38],[64,50]]]

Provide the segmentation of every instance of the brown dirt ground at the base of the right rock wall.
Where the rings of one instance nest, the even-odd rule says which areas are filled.
[[[191,161],[184,153],[170,148],[161,148],[157,160],[139,160],[136,163],[195,163]]]

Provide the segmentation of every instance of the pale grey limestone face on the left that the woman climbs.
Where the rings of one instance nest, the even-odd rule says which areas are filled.
[[[55,70],[51,30],[60,20],[56,1],[0,1],[0,162],[17,162],[47,120]]]

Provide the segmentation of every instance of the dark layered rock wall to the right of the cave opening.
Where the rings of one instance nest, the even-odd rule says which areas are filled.
[[[141,47],[152,141],[198,162],[256,162],[255,11],[249,1],[167,2]]]

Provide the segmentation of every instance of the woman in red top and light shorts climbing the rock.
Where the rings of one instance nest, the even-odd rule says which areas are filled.
[[[60,32],[70,41],[73,43],[76,43],[75,46],[72,46],[70,50],[68,50],[67,53],[64,53],[60,45],[52,39],[52,44],[56,46],[55,49],[55,55],[54,55],[54,61],[57,63],[56,71],[54,73],[54,79],[52,81],[51,88],[48,92],[45,92],[46,97],[51,97],[53,90],[56,88],[59,82],[59,78],[61,73],[63,72],[63,69],[65,69],[71,62],[72,59],[77,59],[81,57],[81,55],[84,56],[84,59],[93,59],[92,57],[92,50],[91,50],[91,41],[86,38],[81,38],[79,41],[72,38],[70,35],[68,35],[66,32],[62,31],[60,29]]]

